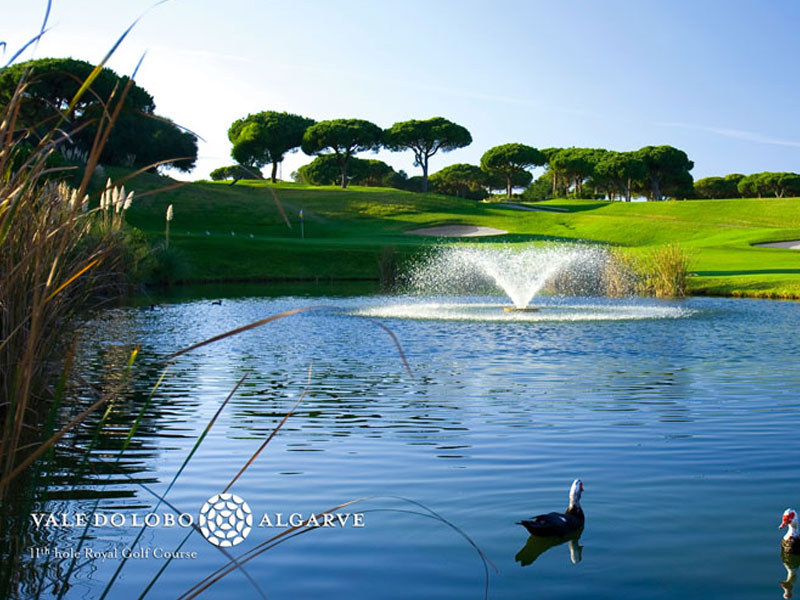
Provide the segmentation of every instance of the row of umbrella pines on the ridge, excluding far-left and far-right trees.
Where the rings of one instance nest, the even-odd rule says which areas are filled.
[[[442,117],[395,123],[388,129],[363,119],[334,119],[319,123],[286,112],[264,111],[235,121],[228,130],[237,164],[215,170],[212,179],[261,177],[261,169],[277,165],[289,152],[301,148],[316,158],[293,174],[309,185],[349,184],[389,186],[398,189],[437,191],[481,199],[495,190],[507,197],[525,188],[523,197],[544,200],[554,196],[608,197],[630,201],[634,196],[651,200],[694,196],[694,163],[672,146],[645,146],[632,152],[603,148],[545,148],[519,143],[487,150],[480,165],[455,164],[429,176],[431,157],[472,143],[470,132]],[[365,160],[360,152],[386,148],[411,151],[422,175],[409,177],[379,160]],[[532,182],[531,169],[545,167]]]

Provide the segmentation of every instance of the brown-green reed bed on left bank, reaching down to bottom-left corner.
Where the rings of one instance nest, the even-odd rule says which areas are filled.
[[[67,393],[76,375],[77,324],[88,308],[121,293],[143,256],[129,251],[124,225],[133,196],[110,182],[88,195],[130,87],[114,91],[97,119],[92,151],[78,153],[70,151],[76,128],[67,110],[40,122],[24,119],[34,81],[27,74],[0,106],[0,586],[6,592],[24,577],[16,566],[24,515],[41,489],[40,459],[119,391],[89,401]],[[84,82],[73,103],[90,86]]]

